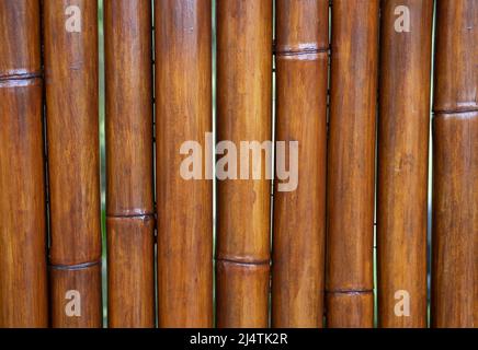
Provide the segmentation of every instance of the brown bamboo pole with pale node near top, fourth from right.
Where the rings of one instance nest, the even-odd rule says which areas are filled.
[[[322,327],[329,1],[280,0],[276,18],[276,141],[299,142],[300,171],[275,186],[272,326]]]

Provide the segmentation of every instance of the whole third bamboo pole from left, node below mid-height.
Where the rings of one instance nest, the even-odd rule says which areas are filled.
[[[151,3],[104,5],[109,326],[155,327]]]

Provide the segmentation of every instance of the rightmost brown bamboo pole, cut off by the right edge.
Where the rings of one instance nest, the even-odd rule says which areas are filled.
[[[432,326],[477,327],[478,3],[437,2]]]

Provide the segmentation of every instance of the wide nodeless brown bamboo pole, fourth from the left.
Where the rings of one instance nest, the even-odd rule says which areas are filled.
[[[180,172],[183,142],[201,144],[200,174],[209,156],[205,135],[212,131],[212,4],[155,4],[158,324],[212,327],[213,184],[204,176],[186,179]]]

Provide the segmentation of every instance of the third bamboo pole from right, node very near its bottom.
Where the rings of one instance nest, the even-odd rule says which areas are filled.
[[[378,1],[332,2],[328,327],[372,327]]]

